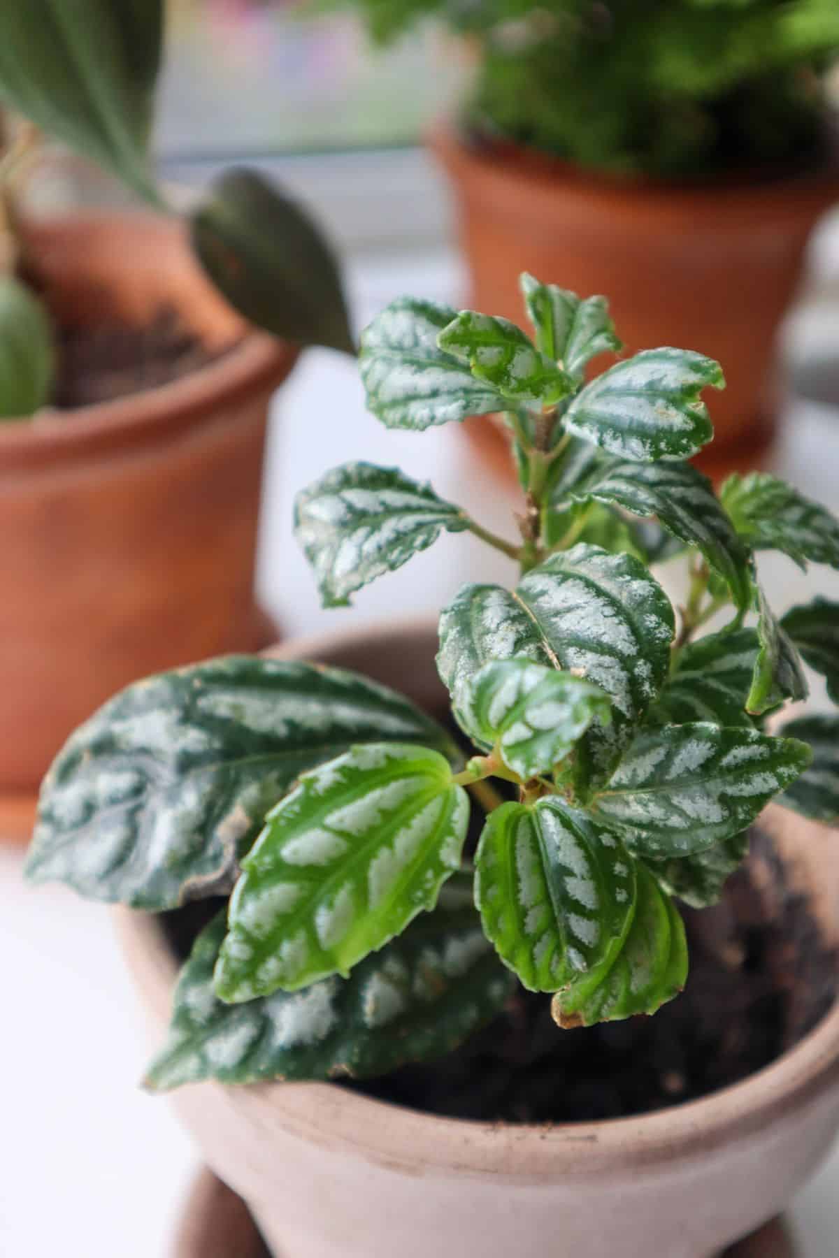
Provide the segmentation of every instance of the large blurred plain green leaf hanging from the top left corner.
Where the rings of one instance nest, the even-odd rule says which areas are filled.
[[[156,201],[148,167],[164,0],[0,5],[0,99]]]

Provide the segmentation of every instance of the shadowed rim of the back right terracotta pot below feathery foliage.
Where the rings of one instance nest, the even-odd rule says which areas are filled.
[[[468,172],[487,181],[514,179],[526,184],[523,195],[555,195],[562,187],[566,196],[576,195],[587,204],[614,206],[623,203],[655,214],[668,210],[683,216],[698,206],[712,205],[720,213],[748,214],[767,211],[797,216],[800,203],[824,203],[825,208],[839,200],[839,146],[831,145],[829,159],[820,165],[779,172],[772,177],[742,176],[717,180],[655,180],[649,176],[621,177],[604,171],[590,171],[517,146],[509,141],[486,150],[470,145],[457,122],[443,118],[426,132],[426,143],[443,166],[462,177]]]

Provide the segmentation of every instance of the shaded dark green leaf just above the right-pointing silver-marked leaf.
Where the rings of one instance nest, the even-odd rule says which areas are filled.
[[[753,722],[746,713],[760,642],[755,629],[707,634],[688,643],[677,657],[675,671],[650,710],[650,725],[716,725]]]

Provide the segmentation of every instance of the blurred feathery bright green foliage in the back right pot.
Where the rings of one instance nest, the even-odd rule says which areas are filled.
[[[377,43],[429,18],[465,38],[477,138],[664,177],[815,160],[824,141],[834,0],[352,3]]]

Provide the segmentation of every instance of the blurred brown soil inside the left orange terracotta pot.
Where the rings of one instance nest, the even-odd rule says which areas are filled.
[[[172,307],[161,307],[145,325],[108,320],[60,327],[53,405],[73,410],[170,384],[229,348],[210,348]]]

